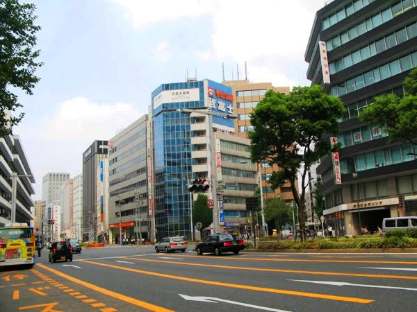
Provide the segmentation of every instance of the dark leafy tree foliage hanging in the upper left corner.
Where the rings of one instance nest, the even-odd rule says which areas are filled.
[[[22,120],[19,116],[8,116],[19,103],[17,95],[10,89],[22,89],[26,94],[33,94],[32,89],[40,78],[35,71],[42,66],[36,62],[39,50],[35,50],[35,33],[40,30],[36,26],[33,15],[35,5],[19,3],[17,0],[0,0],[0,118],[1,137],[11,133],[10,126]]]

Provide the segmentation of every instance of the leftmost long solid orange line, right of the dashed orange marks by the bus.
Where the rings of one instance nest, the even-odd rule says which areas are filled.
[[[53,272],[54,274],[56,274],[60,277],[64,277],[65,279],[68,279],[70,281],[74,281],[74,283],[76,283],[76,284],[80,284],[82,286],[85,286],[87,288],[92,289],[93,291],[97,291],[98,293],[108,295],[108,296],[116,298],[118,300],[122,300],[122,301],[128,302],[130,304],[134,304],[135,306],[140,306],[140,307],[148,309],[150,311],[172,312],[172,310],[165,309],[162,306],[156,306],[155,304],[149,304],[148,302],[137,300],[135,298],[122,295],[120,293],[115,293],[114,291],[109,291],[108,289],[101,288],[99,286],[96,286],[95,284],[90,284],[87,281],[83,281],[81,279],[76,279],[75,277],[72,277],[70,275],[66,275],[63,272],[60,272],[58,270],[54,270],[53,268],[49,268],[47,266],[44,266],[43,264],[40,264],[39,266],[40,266],[40,268],[43,268],[44,270],[49,270],[49,272]],[[117,267],[115,266],[115,268],[117,268]]]

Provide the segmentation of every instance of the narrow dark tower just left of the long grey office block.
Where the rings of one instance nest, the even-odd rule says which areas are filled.
[[[97,205],[96,171],[100,161],[107,158],[108,141],[96,140],[83,153],[83,241],[95,239],[91,229]]]

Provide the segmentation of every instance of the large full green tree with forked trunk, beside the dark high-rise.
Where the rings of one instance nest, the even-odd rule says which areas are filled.
[[[254,125],[254,131],[250,132],[252,161],[279,166],[279,171],[272,173],[270,184],[277,189],[290,182],[301,229],[305,228],[304,198],[310,182],[308,168],[338,147],[322,138],[338,133],[338,119],[344,110],[340,98],[329,96],[322,87],[313,85],[295,87],[288,95],[270,90],[250,114]],[[301,174],[300,193],[298,171]],[[302,241],[304,239],[302,231]]]

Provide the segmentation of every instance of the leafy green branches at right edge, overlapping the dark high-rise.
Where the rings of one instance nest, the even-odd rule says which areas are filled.
[[[359,119],[368,125],[385,128],[389,141],[417,144],[417,67],[404,79],[405,95],[377,96],[375,103],[366,107]]]

